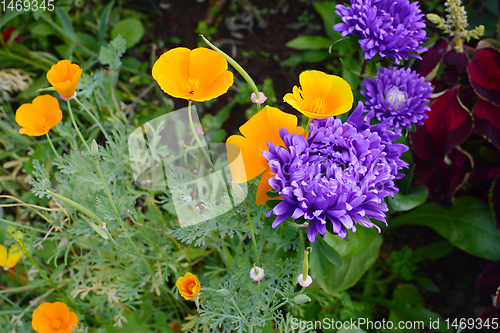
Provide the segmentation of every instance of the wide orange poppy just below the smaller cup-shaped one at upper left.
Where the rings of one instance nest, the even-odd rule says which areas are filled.
[[[29,136],[44,135],[62,120],[59,101],[50,95],[36,97],[32,103],[23,104],[16,111],[19,133]]]

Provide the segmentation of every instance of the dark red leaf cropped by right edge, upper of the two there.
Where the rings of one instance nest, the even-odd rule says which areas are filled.
[[[467,70],[477,94],[500,106],[500,52],[493,48],[477,50]]]

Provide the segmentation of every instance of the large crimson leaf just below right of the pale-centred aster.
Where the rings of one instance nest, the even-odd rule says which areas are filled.
[[[460,102],[458,87],[445,90],[432,101],[429,118],[410,133],[414,151],[427,160],[444,157],[472,131],[472,117]]]

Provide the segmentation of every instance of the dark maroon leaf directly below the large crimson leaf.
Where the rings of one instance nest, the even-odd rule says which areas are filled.
[[[453,197],[467,180],[472,165],[464,153],[453,149],[446,157],[426,161],[414,156],[417,185],[425,185],[443,207],[453,205]]]

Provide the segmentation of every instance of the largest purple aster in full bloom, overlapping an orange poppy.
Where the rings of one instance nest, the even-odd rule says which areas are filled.
[[[284,199],[267,213],[277,216],[273,228],[303,217],[314,242],[327,230],[345,238],[358,223],[379,229],[370,218],[385,222],[384,198],[398,192],[394,179],[407,166],[400,160],[405,149],[371,130],[362,113],[361,105],[346,123],[314,120],[307,139],[282,129],[286,148],[268,143],[269,151],[262,153],[276,174],[269,185]]]

